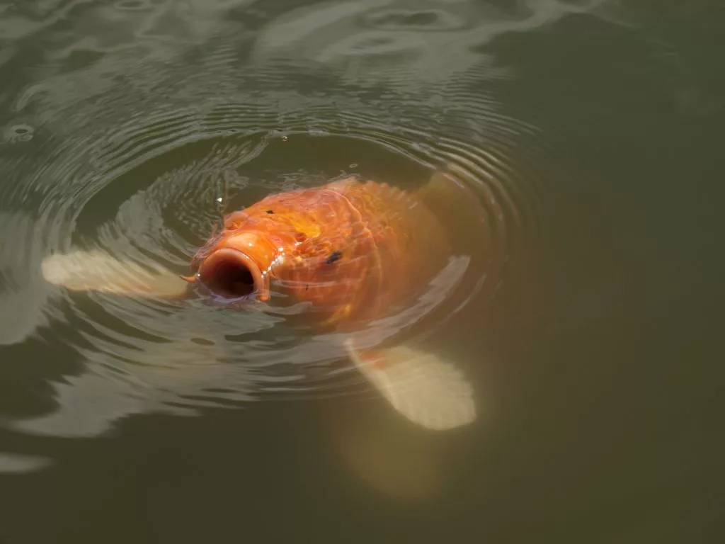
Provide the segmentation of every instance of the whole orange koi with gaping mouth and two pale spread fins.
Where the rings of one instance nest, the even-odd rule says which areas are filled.
[[[278,294],[307,302],[305,317],[347,334],[349,358],[393,408],[428,429],[451,429],[476,419],[461,371],[405,345],[357,348],[356,334],[413,300],[444,268],[451,240],[434,209],[458,192],[437,173],[413,192],[345,178],[272,194],[227,215],[188,277],[149,273],[99,252],[51,255],[43,276],[73,290],[183,297],[196,289],[223,302],[271,303]]]

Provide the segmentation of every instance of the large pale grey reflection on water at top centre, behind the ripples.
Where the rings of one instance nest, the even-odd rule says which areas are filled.
[[[399,92],[418,91],[428,83],[456,83],[453,78],[465,76],[482,62],[492,63],[486,77],[505,78],[513,67],[496,66],[483,51],[486,44],[506,33],[589,12],[602,2],[540,0],[515,7],[465,0],[426,4],[413,9],[395,0],[373,0],[299,7],[262,29],[252,58],[259,64],[276,58],[312,61],[339,70],[346,83],[365,87],[394,83]],[[478,71],[477,77],[481,77]],[[436,93],[435,99],[444,98]]]

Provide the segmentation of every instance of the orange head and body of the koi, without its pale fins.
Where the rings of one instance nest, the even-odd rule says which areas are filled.
[[[311,302],[326,323],[350,323],[405,300],[449,255],[438,216],[418,195],[346,178],[231,213],[194,268],[223,297],[268,300],[273,289]]]

